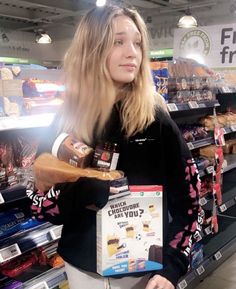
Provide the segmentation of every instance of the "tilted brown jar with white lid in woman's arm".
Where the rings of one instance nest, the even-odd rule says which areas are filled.
[[[74,167],[85,168],[91,164],[93,149],[67,133],[61,133],[52,146],[52,154]]]

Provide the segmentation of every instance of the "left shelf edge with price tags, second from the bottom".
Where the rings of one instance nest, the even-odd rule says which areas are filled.
[[[46,245],[61,236],[62,226],[43,223],[0,241],[0,264],[34,248]]]

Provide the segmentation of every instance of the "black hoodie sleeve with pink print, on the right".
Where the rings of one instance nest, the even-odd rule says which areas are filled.
[[[164,244],[164,270],[160,273],[176,286],[188,269],[190,250],[201,230],[200,178],[194,159],[177,125],[166,116],[162,124],[165,191],[171,216]]]

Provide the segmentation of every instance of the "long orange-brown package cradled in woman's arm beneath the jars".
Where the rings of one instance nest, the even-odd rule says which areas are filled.
[[[42,192],[63,182],[75,182],[79,177],[115,180],[123,177],[121,171],[103,172],[92,168],[77,168],[49,153],[41,154],[34,162],[35,186]]]

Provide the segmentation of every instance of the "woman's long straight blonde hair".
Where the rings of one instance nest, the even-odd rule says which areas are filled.
[[[119,15],[130,17],[142,38],[140,70],[134,81],[125,85],[121,92],[122,127],[129,137],[154,121],[157,99],[143,19],[138,12],[127,8],[94,8],[80,21],[65,55],[66,97],[61,115],[61,129],[87,144],[102,134],[117,98],[106,63],[114,43],[113,19]]]

